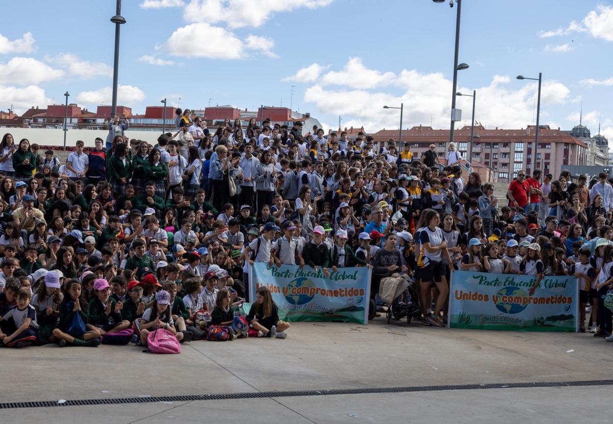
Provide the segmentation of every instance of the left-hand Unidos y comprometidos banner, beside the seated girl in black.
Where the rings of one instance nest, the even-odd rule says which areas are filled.
[[[249,293],[266,286],[286,321],[346,321],[368,324],[370,270],[338,268],[326,278],[321,268],[296,265],[270,267],[255,262],[249,272]]]

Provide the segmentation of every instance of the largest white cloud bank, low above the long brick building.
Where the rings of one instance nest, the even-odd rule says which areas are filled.
[[[369,70],[376,75],[392,74]],[[327,75],[327,74],[326,74]],[[393,75],[393,74],[392,74]],[[304,100],[316,105],[322,113],[343,115],[343,127],[364,125],[368,132],[398,128],[398,110],[386,110],[384,105],[398,107],[403,104],[403,127],[429,125],[435,128],[449,125],[451,108],[451,80],[440,73],[424,74],[417,70],[402,70],[381,89],[356,88],[355,81],[338,83],[338,88],[327,88],[321,81],[305,91]],[[383,84],[381,84],[383,85]],[[376,86],[370,83],[364,86]],[[537,83],[520,83],[508,75],[495,75],[487,86],[476,87],[475,119],[488,127],[520,128],[533,124]],[[459,87],[457,91],[471,93],[473,88]],[[561,104],[569,97],[569,89],[556,81],[544,81],[541,102],[541,121],[547,122],[547,105]],[[465,122],[470,124],[471,97],[457,97],[457,107],[463,110]]]

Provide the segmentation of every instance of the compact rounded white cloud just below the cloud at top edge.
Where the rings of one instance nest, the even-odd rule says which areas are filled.
[[[243,42],[233,32],[208,23],[178,28],[162,46],[173,56],[211,59],[240,59]]]

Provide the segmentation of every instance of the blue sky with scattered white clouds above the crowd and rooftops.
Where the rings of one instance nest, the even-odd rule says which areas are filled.
[[[485,127],[579,122],[613,142],[613,1],[462,0],[458,90]],[[283,105],[324,127],[449,126],[456,7],[431,0],[124,0],[119,103]],[[28,11],[28,12],[25,12]],[[110,104],[115,1],[4,7],[0,109]],[[292,86],[294,95],[291,99]],[[179,100],[180,99],[180,100]],[[460,97],[470,125],[470,97]]]

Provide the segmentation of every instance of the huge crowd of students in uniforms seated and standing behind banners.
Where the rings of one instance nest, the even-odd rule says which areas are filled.
[[[555,200],[543,219],[513,203],[499,208],[478,173],[464,180],[465,167],[440,165],[434,150],[416,159],[408,143],[398,153],[393,140],[337,139],[319,128],[303,135],[300,123],[289,129],[268,119],[245,130],[227,119],[211,134],[189,112],[177,124],[177,134],[153,146],[113,127],[107,150],[101,139],[89,153],[77,142],[64,164],[21,140],[28,176],[2,169],[15,154],[12,136],[2,138],[2,344],[97,346],[127,329],[147,344],[157,328],[185,342],[207,338],[211,326],[245,337],[241,319],[252,336],[284,338],[289,324],[270,292],[249,296],[254,262],[326,277],[368,267],[373,299],[382,279],[408,273],[420,289],[422,323],[436,327],[446,323],[453,270],[533,275],[530,294],[543,276],[573,274],[582,331],[590,303],[588,326],[611,333],[606,181],[587,208],[575,205],[582,178],[551,183],[567,202]],[[75,321],[83,323],[77,330]]]

